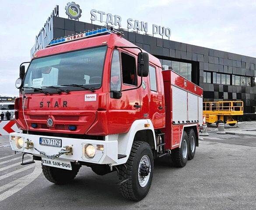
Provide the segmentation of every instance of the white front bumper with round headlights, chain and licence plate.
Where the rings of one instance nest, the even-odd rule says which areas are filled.
[[[15,140],[12,140],[11,137],[23,137],[23,147],[18,148],[15,144]],[[51,139],[61,139],[62,140],[62,147],[51,147],[39,144],[39,138],[51,138]],[[34,145],[31,149],[26,149],[25,141],[31,141]],[[72,147],[72,154],[68,155],[61,155],[58,159],[63,159],[66,161],[82,161],[88,163],[97,163],[97,164],[116,164],[118,160],[118,145],[117,140],[105,141],[105,140],[90,140],[90,139],[74,139],[74,138],[65,138],[65,137],[50,137],[50,136],[40,136],[40,135],[31,135],[25,133],[10,133],[10,144],[11,148],[14,151],[26,152],[33,154],[39,157],[45,157],[40,155],[38,151],[45,152],[47,155],[58,154],[61,149],[65,146]],[[20,143],[22,144],[22,143]],[[96,147],[96,145],[100,144],[104,146],[104,150],[96,151],[96,154],[93,158],[88,158],[84,155],[84,146],[91,144]]]

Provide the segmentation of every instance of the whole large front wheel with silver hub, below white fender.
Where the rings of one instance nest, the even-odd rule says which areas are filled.
[[[148,193],[154,169],[151,147],[146,142],[134,141],[125,166],[119,166],[119,180],[128,179],[120,184],[122,195],[130,200],[142,200]]]

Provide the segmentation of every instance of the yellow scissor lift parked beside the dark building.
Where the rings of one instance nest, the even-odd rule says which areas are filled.
[[[234,116],[243,115],[242,101],[203,102],[203,115],[207,124],[227,123],[235,126]]]

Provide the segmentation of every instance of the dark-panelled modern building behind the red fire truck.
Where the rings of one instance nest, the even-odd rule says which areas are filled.
[[[48,36],[60,38],[102,26],[52,17]],[[204,101],[242,100],[251,119],[256,112],[256,58],[231,52],[128,32],[124,38],[160,59],[163,68],[172,69],[203,88]],[[44,40],[41,40],[43,43]],[[35,44],[31,55],[40,48]],[[42,48],[42,46],[41,46]]]

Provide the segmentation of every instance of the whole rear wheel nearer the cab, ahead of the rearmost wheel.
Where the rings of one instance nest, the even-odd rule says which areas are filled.
[[[176,167],[184,167],[189,157],[189,141],[186,131],[183,131],[182,142],[179,148],[172,150],[172,162]]]

